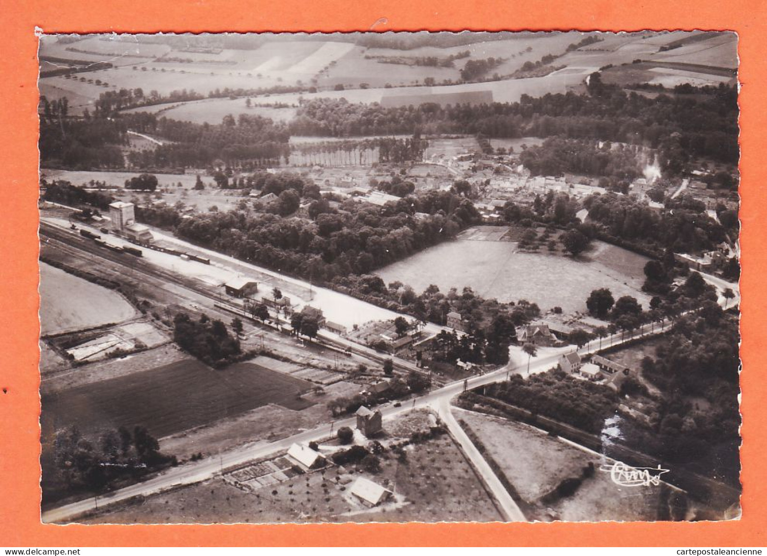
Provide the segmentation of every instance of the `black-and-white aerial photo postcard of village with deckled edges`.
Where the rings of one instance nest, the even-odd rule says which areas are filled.
[[[740,517],[734,33],[38,58],[45,523]]]

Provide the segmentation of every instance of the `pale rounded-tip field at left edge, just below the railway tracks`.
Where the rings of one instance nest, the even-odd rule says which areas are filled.
[[[40,263],[43,336],[127,321],[136,314],[120,294]]]

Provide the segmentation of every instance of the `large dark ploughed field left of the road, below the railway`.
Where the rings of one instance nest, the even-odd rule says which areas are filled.
[[[304,409],[311,403],[298,395],[311,387],[250,363],[213,370],[186,358],[43,396],[41,421],[51,431],[71,425],[84,432],[138,425],[162,437],[268,403]]]

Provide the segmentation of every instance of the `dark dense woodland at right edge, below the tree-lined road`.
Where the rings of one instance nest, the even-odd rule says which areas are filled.
[[[653,426],[637,431],[642,446],[737,482],[739,341],[737,319],[711,305],[676,322],[642,361],[644,377],[663,392]]]

